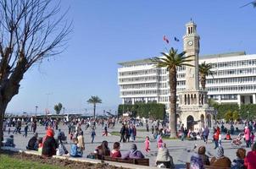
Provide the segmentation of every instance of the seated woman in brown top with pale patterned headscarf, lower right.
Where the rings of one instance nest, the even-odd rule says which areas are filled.
[[[211,159],[210,166],[231,167],[231,160],[224,155],[222,147],[217,148],[217,154]]]

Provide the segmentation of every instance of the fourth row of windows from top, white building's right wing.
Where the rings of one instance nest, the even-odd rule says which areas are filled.
[[[256,90],[256,85],[233,85],[233,86],[220,86],[220,87],[206,87],[208,91],[246,91]]]

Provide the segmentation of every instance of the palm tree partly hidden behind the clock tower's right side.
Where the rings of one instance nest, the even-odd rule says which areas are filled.
[[[210,70],[211,68],[213,68],[213,67],[210,63],[203,62],[203,63],[199,64],[200,83],[201,83],[203,90],[205,90],[206,76],[214,75],[213,72]]]

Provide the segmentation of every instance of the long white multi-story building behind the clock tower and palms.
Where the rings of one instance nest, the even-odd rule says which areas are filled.
[[[219,103],[256,104],[256,54],[231,52],[199,56],[199,63],[211,63],[208,97]],[[156,101],[169,107],[170,87],[166,68],[155,68],[150,58],[119,63],[118,85],[123,104]],[[186,68],[177,69],[177,91],[186,89]]]

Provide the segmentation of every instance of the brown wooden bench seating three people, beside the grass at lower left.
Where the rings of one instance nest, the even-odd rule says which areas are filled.
[[[100,156],[95,155],[96,159],[102,161],[114,161],[114,162],[121,162],[121,163],[128,163],[128,164],[135,164],[141,166],[149,166],[149,159],[122,159],[122,158],[113,158],[110,156]]]

